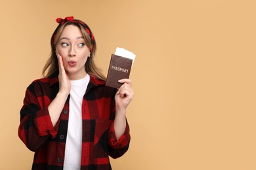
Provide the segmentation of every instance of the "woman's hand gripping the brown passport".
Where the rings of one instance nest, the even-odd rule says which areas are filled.
[[[123,83],[123,85],[117,90],[115,96],[116,108],[122,110],[127,108],[135,94],[131,88],[131,80],[125,78],[118,82]]]

